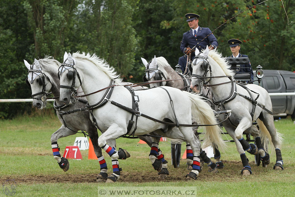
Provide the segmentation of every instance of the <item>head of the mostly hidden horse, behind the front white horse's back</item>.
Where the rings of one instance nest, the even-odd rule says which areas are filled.
[[[163,72],[166,72],[165,70],[160,70],[158,66],[158,61],[156,56],[150,61],[149,63],[147,62],[146,59],[141,58],[141,61],[143,62],[145,66],[145,75],[143,76],[143,81],[148,82],[148,81],[159,81],[162,80],[165,74]],[[165,79],[165,77],[164,77]],[[154,86],[165,86],[166,82],[157,82],[157,83],[151,83],[150,87]]]

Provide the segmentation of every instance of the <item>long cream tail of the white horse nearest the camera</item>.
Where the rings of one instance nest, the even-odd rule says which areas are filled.
[[[214,111],[208,103],[206,103],[201,96],[198,94],[191,94],[183,91],[191,101],[191,114],[193,119],[195,119],[200,124],[214,125],[205,126],[204,129],[204,141],[202,147],[208,147],[212,145],[213,147],[218,146],[219,149],[224,149],[226,144],[222,140],[221,132],[222,130],[218,126],[216,118],[214,116]]]

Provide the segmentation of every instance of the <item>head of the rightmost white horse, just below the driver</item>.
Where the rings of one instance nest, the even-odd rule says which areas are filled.
[[[209,49],[208,46],[203,52],[199,52],[199,50],[196,48],[195,51],[195,58],[192,61],[192,64],[190,66],[190,70],[192,73],[191,78],[191,89],[194,92],[200,92],[202,89],[202,83],[207,82],[210,78],[204,78],[204,77],[210,77],[210,65],[208,60],[208,54]]]

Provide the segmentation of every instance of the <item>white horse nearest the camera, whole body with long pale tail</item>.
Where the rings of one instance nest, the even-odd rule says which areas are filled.
[[[73,65],[74,62],[75,65]],[[69,78],[72,75],[71,73],[74,73],[73,78]],[[156,131],[160,135],[171,139],[181,139],[191,145],[194,163],[192,171],[186,177],[187,179],[196,179],[200,171],[201,144],[194,135],[192,128],[184,127],[184,124],[191,124],[192,116],[199,119],[202,124],[217,124],[213,110],[199,96],[171,87],[136,91],[134,94],[138,109],[132,111],[131,93],[124,86],[120,86],[122,84],[121,79],[118,78],[119,76],[116,75],[114,69],[95,54],[91,56],[85,53],[74,53],[72,58],[69,53],[67,64],[62,64],[59,75],[61,79],[61,102],[69,104],[73,91],[69,88],[77,88],[81,85],[84,93],[88,94],[86,98],[90,106],[99,106],[93,109],[98,127],[104,131],[98,139],[98,145],[113,159],[126,159],[126,155],[129,155],[129,153],[123,149],[117,151],[115,147],[109,147],[106,141],[131,134],[132,132],[128,133],[127,127],[131,115],[135,114],[137,123],[132,126],[131,130],[134,135],[144,135]],[[111,84],[115,86],[112,94],[109,91],[110,89],[90,94],[109,87]],[[109,93],[105,94],[106,92]],[[104,103],[104,105],[101,103]],[[147,118],[148,116],[159,121],[151,120]],[[163,124],[160,121],[169,122],[171,125]],[[178,123],[180,124],[179,127],[177,127]],[[137,126],[136,130],[134,130],[135,125]],[[212,143],[224,146],[217,125],[206,127],[206,137],[208,138],[208,136],[210,136]],[[116,174],[114,175],[116,176]]]

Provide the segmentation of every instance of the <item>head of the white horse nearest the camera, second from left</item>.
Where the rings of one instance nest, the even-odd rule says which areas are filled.
[[[59,100],[65,104],[71,104],[77,89],[81,86],[81,78],[75,66],[75,60],[72,54],[64,55],[64,63],[58,69],[58,77],[60,78],[60,98]]]

